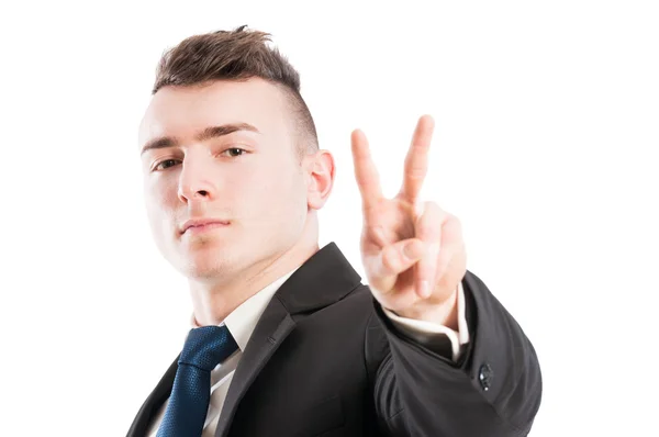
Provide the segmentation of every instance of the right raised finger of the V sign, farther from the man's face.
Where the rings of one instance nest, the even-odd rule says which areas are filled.
[[[421,187],[428,171],[428,149],[431,148],[431,139],[435,121],[431,115],[423,115],[416,123],[412,144],[405,157],[405,173],[403,176],[403,194],[411,203],[416,202],[416,198],[421,193]]]

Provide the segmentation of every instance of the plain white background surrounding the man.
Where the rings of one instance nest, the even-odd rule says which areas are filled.
[[[300,70],[336,157],[322,245],[362,272],[350,131],[393,195],[433,114],[425,198],[536,347],[530,435],[656,435],[657,3],[3,3],[0,435],[125,435],[179,351],[191,306],[147,227],[137,125],[164,49],[241,24]]]

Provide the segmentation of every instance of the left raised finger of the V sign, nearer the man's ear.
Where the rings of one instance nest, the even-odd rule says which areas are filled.
[[[351,143],[355,179],[357,179],[357,186],[361,193],[361,204],[366,211],[382,199],[380,176],[378,175],[376,164],[371,159],[368,141],[364,132],[360,130],[354,131]]]

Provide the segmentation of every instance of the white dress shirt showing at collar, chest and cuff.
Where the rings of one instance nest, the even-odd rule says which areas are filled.
[[[293,274],[295,270],[297,268],[277,279],[254,294],[252,298],[243,302],[230,315],[227,315],[222,323],[226,325],[232,336],[236,340],[238,350],[236,350],[231,357],[224,360],[224,362],[221,362],[211,371],[211,399],[209,402],[206,418],[203,424],[202,437],[213,437],[215,435],[215,427],[217,419],[220,418],[220,413],[222,412],[222,406],[224,405],[224,399],[226,397],[228,385],[233,378],[234,371],[238,366],[241,356],[247,346],[247,341],[249,340],[258,320],[268,306],[268,303],[277,290],[279,290],[281,284],[283,284],[283,282],[286,282],[286,280],[289,279],[289,277]],[[465,318],[465,291],[462,290],[461,283],[458,285],[458,332],[455,332],[454,329],[440,324],[400,317],[387,310],[384,310],[384,314],[392,320],[396,328],[422,344],[432,346],[433,340],[438,336],[448,336],[453,346],[454,361],[459,358],[462,349],[461,346],[469,343],[469,332],[467,328],[467,320]],[[192,328],[200,327],[197,324],[194,316],[192,316],[191,322]],[[188,332],[189,330],[186,330],[183,337],[187,337]],[[165,401],[160,407],[160,411],[147,432],[148,437],[156,437],[168,403],[169,400]]]

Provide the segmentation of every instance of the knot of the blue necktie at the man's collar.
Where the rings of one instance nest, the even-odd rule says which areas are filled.
[[[237,348],[226,325],[202,326],[190,329],[178,362],[210,372]]]

